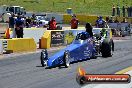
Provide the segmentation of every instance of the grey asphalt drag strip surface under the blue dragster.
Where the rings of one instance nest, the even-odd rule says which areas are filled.
[[[116,42],[113,57],[98,57],[69,68],[45,69],[39,57],[40,53],[35,53],[0,60],[0,88],[80,88],[76,83],[79,66],[96,74],[112,74],[132,66],[132,40]]]

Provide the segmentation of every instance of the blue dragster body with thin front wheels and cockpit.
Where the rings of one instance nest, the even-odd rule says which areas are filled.
[[[46,49],[42,50],[40,59],[43,67],[56,67],[62,65],[68,67],[70,63],[74,61],[96,58],[95,53],[96,50],[93,39],[87,32],[82,32],[77,34],[72,44],[50,57],[48,57]]]

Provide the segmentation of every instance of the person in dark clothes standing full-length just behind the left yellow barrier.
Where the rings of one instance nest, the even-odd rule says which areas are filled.
[[[15,20],[15,31],[17,38],[23,38],[23,25],[24,22],[21,19],[21,15],[18,13],[17,19]]]

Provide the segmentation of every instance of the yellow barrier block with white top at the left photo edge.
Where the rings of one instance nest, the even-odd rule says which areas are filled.
[[[3,42],[3,50],[5,51],[12,52],[36,51],[36,43],[33,38],[13,38],[1,40]]]

